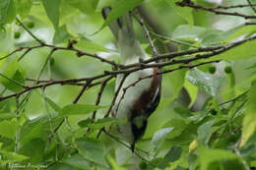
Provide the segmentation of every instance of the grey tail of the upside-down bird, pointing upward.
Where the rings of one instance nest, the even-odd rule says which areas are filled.
[[[110,7],[105,7],[102,9],[102,17],[106,20],[109,13],[111,12]],[[108,25],[112,31],[117,43],[120,45],[133,46],[135,43],[135,33],[132,23],[132,14],[128,12],[122,17],[116,19]]]

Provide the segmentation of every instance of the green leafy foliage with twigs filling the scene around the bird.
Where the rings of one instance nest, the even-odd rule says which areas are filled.
[[[256,167],[256,1],[211,2],[0,0],[0,169]],[[131,72],[107,25],[139,5],[142,47],[167,60],[157,63],[160,105],[132,153],[115,128],[126,120],[110,116],[117,71]],[[142,63],[131,68],[152,64]]]

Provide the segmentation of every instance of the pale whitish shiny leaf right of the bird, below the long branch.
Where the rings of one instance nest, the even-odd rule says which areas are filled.
[[[212,96],[220,92],[220,88],[224,83],[223,77],[207,74],[198,69],[191,70],[187,80]]]

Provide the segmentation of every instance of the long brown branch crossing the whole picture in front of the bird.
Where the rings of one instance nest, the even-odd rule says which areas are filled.
[[[21,94],[23,94],[27,91],[30,91],[32,89],[35,89],[35,88],[46,87],[46,86],[49,86],[49,85],[64,85],[64,84],[67,84],[67,83],[78,83],[78,82],[83,82],[83,81],[92,81],[93,82],[97,79],[101,79],[101,78],[107,77],[109,75],[117,76],[119,74],[130,74],[130,73],[133,73],[133,72],[136,72],[136,71],[139,71],[139,70],[144,70],[144,69],[153,68],[153,67],[163,67],[163,66],[181,64],[181,63],[188,64],[190,62],[197,61],[197,60],[200,60],[200,59],[211,58],[211,57],[213,57],[215,55],[218,55],[218,54],[221,54],[224,51],[227,51],[227,50],[229,50],[233,47],[236,47],[236,46],[238,46],[242,43],[245,43],[247,41],[254,40],[254,39],[256,39],[256,35],[245,38],[245,39],[242,39],[242,40],[239,40],[239,41],[235,41],[235,42],[223,45],[223,46],[198,48],[198,49],[192,49],[192,50],[180,52],[180,54],[186,55],[186,54],[191,53],[191,52],[209,50],[211,48],[212,49],[214,49],[214,48],[218,49],[218,50],[213,50],[212,52],[209,52],[209,53],[197,54],[197,55],[195,55],[193,57],[190,57],[190,58],[184,58],[184,59],[179,59],[179,60],[173,60],[172,59],[171,61],[168,61],[168,62],[161,62],[161,63],[156,63],[156,64],[144,64],[143,62],[148,62],[146,60],[146,61],[143,61],[142,63],[127,65],[127,66],[123,67],[124,69],[122,69],[122,70],[104,71],[103,74],[97,75],[95,77],[88,77],[88,78],[82,78],[82,79],[62,80],[62,81],[49,82],[49,83],[46,83],[46,84],[27,86],[26,89],[24,89],[20,92],[0,97],[0,101],[2,101],[4,99],[7,99],[7,98],[10,98],[10,97],[19,96],[19,95],[21,95]],[[173,55],[171,53],[167,54],[167,55],[164,54],[163,56],[160,56],[160,57],[157,57],[157,58],[154,58],[154,59],[151,59],[151,60],[155,61],[155,60],[160,60],[161,58],[168,58],[168,57],[173,57],[173,56],[177,57],[178,55],[177,55],[177,53],[173,53]],[[131,68],[131,69],[126,69],[126,67]]]

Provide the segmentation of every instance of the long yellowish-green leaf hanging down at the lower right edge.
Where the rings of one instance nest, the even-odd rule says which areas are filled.
[[[256,129],[256,83],[253,83],[249,92],[248,99],[246,102],[245,117],[243,119],[242,126],[242,140],[241,146],[243,146],[249,138],[253,135]]]

